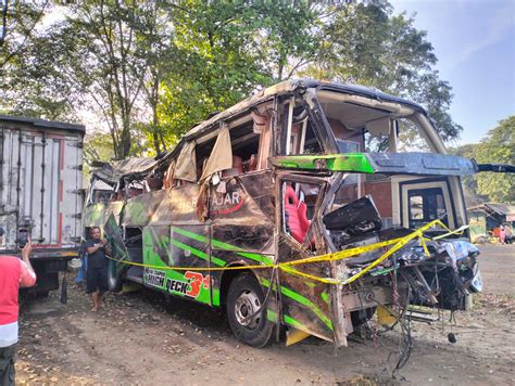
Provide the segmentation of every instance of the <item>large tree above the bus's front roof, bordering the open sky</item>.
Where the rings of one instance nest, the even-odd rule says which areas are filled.
[[[324,43],[302,74],[350,80],[418,102],[445,141],[463,130],[449,114],[451,87],[432,69],[432,46],[412,17],[393,15],[387,0],[353,1],[337,9],[322,29]]]

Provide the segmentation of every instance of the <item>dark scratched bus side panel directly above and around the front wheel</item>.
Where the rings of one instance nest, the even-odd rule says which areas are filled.
[[[224,190],[211,188],[212,266],[253,266],[252,271],[266,294],[272,269],[261,267],[272,265],[275,255],[274,185],[271,173],[256,172],[227,178],[224,184]],[[222,281],[228,283],[224,278],[233,279],[241,271],[213,272],[214,305],[225,301],[221,295],[227,295],[228,287],[224,294],[219,292]],[[269,301],[268,309],[277,313],[274,301]]]

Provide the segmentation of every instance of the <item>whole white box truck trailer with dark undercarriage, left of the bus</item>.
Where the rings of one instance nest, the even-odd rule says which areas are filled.
[[[81,125],[0,115],[0,254],[20,255],[30,236],[30,292],[58,290],[59,272],[77,256],[84,134]]]

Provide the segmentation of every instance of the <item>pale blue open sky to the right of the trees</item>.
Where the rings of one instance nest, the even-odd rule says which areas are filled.
[[[515,0],[390,0],[415,14],[453,89],[451,116],[464,130],[456,144],[476,143],[515,115]]]

